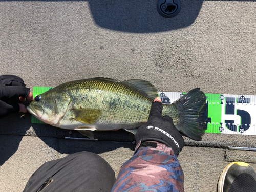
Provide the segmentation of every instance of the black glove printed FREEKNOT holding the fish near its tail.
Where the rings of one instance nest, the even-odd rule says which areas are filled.
[[[169,116],[162,117],[163,106],[161,102],[155,101],[152,104],[148,121],[139,127],[135,135],[136,145],[141,141],[157,141],[171,147],[177,156],[184,146],[184,139]]]

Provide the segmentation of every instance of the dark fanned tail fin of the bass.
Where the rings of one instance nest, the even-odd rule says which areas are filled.
[[[193,140],[201,141],[207,129],[204,120],[206,96],[200,88],[193,89],[173,104],[179,111],[177,129]]]

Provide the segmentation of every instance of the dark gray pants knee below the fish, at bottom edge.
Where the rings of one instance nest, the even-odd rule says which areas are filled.
[[[109,192],[114,182],[115,172],[104,159],[91,152],[78,152],[43,164],[30,177],[24,192]]]

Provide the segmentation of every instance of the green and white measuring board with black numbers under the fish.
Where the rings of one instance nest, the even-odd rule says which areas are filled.
[[[53,87],[34,87],[33,97]],[[162,103],[171,104],[185,93],[158,92]],[[256,135],[256,96],[207,94],[205,133]],[[32,123],[44,123],[32,116]]]

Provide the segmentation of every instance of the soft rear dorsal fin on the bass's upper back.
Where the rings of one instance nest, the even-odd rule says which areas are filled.
[[[158,96],[156,88],[148,81],[141,79],[131,79],[123,81],[122,83],[132,86],[133,88],[143,92],[147,97],[155,99]]]

